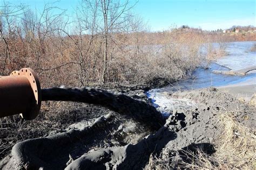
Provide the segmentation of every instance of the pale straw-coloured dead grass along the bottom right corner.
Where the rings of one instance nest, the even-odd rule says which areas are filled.
[[[171,157],[163,157],[169,151],[162,151],[159,157],[150,157],[145,169],[255,169],[256,136],[255,130],[247,128],[235,120],[234,114],[221,114],[220,127],[223,133],[214,141],[215,152],[210,155],[201,148],[182,151],[186,161],[173,164]],[[165,148],[165,150],[168,150]]]

